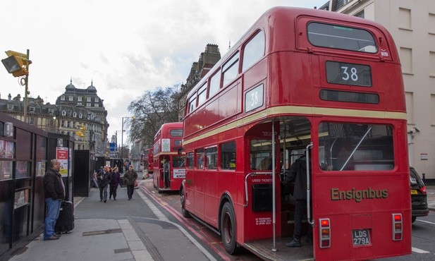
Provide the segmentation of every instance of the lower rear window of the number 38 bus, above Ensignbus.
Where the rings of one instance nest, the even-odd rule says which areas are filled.
[[[393,169],[393,127],[375,124],[320,123],[319,165],[324,171]]]

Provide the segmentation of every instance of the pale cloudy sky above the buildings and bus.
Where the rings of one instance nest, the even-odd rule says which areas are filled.
[[[14,0],[1,4],[0,58],[30,49],[30,97],[54,104],[73,79],[104,99],[109,137],[145,90],[185,83],[205,46],[221,55],[273,6],[320,7],[326,0]],[[1,66],[3,67],[3,66]],[[0,95],[24,87],[0,68]],[[120,134],[120,133],[118,133]],[[121,137],[118,138],[120,140]]]

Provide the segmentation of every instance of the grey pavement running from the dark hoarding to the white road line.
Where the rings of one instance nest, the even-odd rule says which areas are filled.
[[[152,179],[138,179],[139,187],[145,186],[142,182]],[[182,226],[167,219],[142,188],[135,189],[131,201],[126,188],[118,188],[116,201],[99,202],[99,189],[91,188],[89,197],[73,202],[73,231],[44,241],[40,229],[0,260],[216,261]]]

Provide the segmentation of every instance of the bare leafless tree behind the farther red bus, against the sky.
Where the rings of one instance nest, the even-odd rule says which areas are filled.
[[[161,125],[178,121],[179,88],[180,85],[173,85],[147,90],[130,103],[128,111],[134,116],[126,121],[130,142],[140,140],[145,147],[152,147]]]

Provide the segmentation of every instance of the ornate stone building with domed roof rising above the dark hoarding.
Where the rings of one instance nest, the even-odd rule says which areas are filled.
[[[70,80],[55,104],[44,104],[39,96],[28,99],[28,123],[73,136],[75,150],[91,150],[95,156],[106,155],[107,111],[92,82],[86,89],[78,89]],[[0,94],[0,111],[24,121],[24,99],[20,95],[12,98],[11,94],[8,99],[1,99]]]

